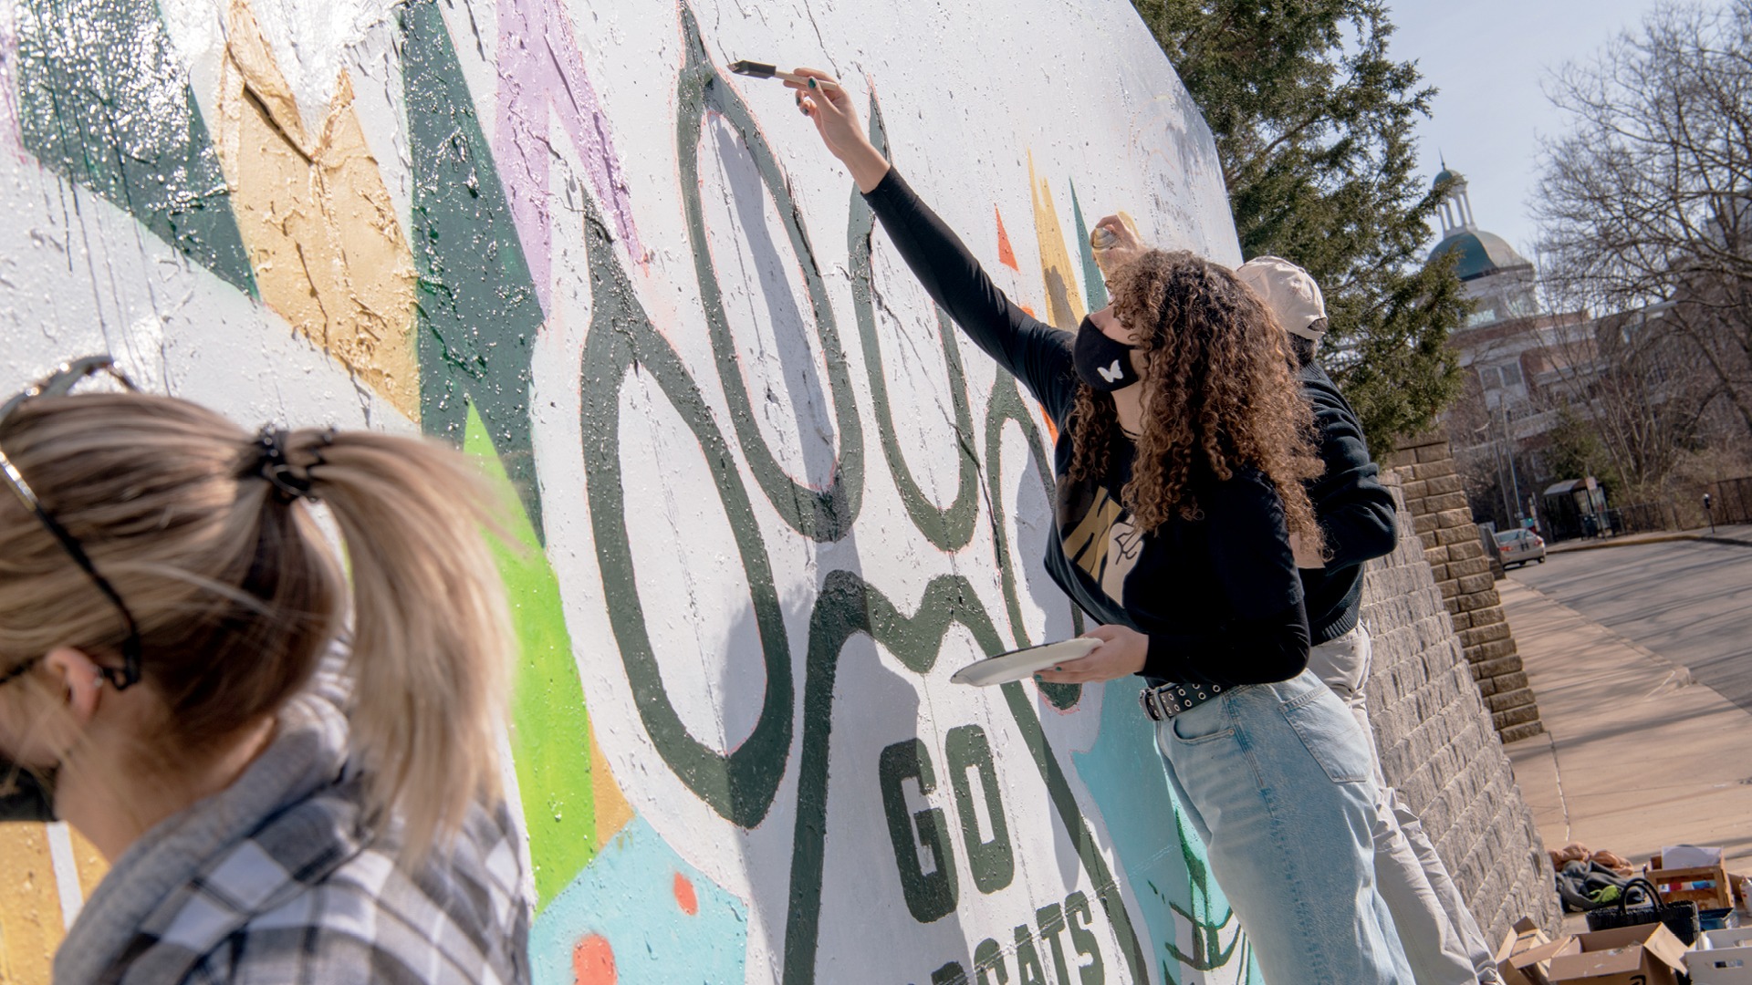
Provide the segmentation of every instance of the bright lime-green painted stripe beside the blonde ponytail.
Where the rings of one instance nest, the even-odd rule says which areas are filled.
[[[463,449],[515,503],[512,480],[473,407]],[[590,787],[590,719],[571,657],[559,578],[522,510],[506,510],[512,545],[496,543],[499,577],[512,603],[520,659],[512,699],[512,759],[529,827],[536,897],[550,903],[596,857],[596,797]]]

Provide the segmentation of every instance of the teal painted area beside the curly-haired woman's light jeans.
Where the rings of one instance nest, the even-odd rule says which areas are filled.
[[[1088,752],[1072,752],[1077,776],[1095,799],[1113,840],[1121,883],[1132,887],[1149,939],[1149,966],[1162,981],[1202,981],[1209,971],[1246,962],[1240,922],[1211,876],[1204,845],[1181,813],[1156,752],[1155,724],[1137,713],[1137,684],[1109,680],[1102,692],[1100,736]],[[1190,929],[1190,950],[1179,931]]]

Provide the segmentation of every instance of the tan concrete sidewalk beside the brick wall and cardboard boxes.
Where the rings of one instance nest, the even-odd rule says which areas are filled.
[[[1752,875],[1752,713],[1537,589],[1496,589],[1547,733],[1507,747],[1545,847],[1642,864],[1663,845],[1720,845]]]

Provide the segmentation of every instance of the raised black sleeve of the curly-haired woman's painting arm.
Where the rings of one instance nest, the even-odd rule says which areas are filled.
[[[895,168],[864,200],[930,300],[1060,417],[1076,396],[1070,333],[1030,315],[999,291],[960,237]]]

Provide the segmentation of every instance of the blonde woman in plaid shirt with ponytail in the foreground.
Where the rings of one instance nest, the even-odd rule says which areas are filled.
[[[463,456],[249,435],[91,358],[0,407],[0,815],[110,861],[56,983],[529,980]]]

